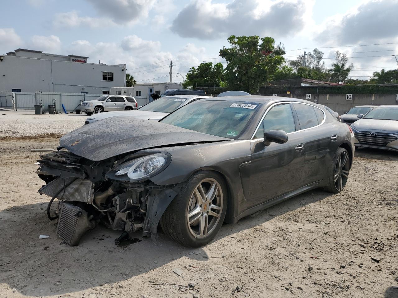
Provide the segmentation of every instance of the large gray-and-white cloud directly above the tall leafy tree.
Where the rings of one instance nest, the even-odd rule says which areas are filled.
[[[232,34],[285,37],[302,29],[303,16],[312,4],[304,0],[194,0],[179,12],[171,29],[181,37],[198,39]]]

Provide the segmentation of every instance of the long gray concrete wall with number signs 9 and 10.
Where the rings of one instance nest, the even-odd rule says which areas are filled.
[[[277,96],[307,99],[306,94],[291,93],[277,94]],[[352,99],[347,100],[346,94],[311,94],[311,99],[308,100],[318,104],[324,104],[341,115],[350,108],[359,105],[398,104],[397,96],[397,94],[352,94]]]

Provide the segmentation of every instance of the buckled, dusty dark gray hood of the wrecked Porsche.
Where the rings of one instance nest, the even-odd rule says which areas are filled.
[[[102,161],[116,155],[153,147],[227,140],[230,139],[162,122],[118,116],[84,125],[61,137],[59,143],[78,156]]]

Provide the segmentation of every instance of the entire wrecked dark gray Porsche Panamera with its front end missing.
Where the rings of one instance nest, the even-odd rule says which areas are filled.
[[[47,215],[69,245],[99,223],[122,231],[116,243],[138,230],[156,242],[160,223],[198,247],[223,222],[314,188],[341,192],[353,141],[347,124],[309,101],[201,99],[160,122],[111,117],[64,135],[40,155],[39,193],[51,197]]]

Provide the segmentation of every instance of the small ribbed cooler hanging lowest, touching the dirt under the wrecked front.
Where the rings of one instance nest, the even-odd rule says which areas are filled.
[[[87,216],[87,212],[83,209],[69,203],[62,203],[57,236],[71,246],[78,245],[83,234],[95,226]]]

